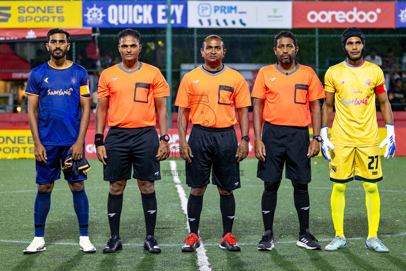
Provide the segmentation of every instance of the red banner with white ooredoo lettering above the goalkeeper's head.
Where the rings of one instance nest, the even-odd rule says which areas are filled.
[[[293,28],[395,28],[395,2],[293,1]]]

